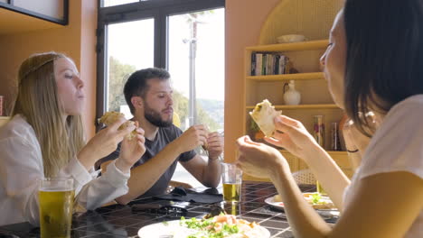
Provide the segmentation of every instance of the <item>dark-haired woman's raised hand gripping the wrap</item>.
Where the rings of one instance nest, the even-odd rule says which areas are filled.
[[[271,138],[265,137],[265,141],[285,148],[296,157],[305,160],[309,151],[320,146],[303,124],[286,115],[277,116],[275,126],[277,132]]]

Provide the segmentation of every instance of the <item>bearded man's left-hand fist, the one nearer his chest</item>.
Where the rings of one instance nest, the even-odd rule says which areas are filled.
[[[202,124],[193,125],[174,142],[181,153],[192,151],[207,142],[207,130]]]

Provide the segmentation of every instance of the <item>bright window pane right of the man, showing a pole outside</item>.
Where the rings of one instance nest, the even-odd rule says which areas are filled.
[[[223,131],[223,29],[223,8],[169,17],[168,69],[183,130],[205,124]]]

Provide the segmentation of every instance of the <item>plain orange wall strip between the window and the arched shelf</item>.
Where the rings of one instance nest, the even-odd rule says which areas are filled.
[[[261,25],[280,0],[226,0],[225,160],[235,160],[235,140],[243,133],[244,48],[258,44]]]

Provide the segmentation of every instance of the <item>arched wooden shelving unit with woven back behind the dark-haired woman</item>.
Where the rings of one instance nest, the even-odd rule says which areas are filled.
[[[283,3],[282,3],[283,2]],[[289,1],[288,1],[289,2]],[[296,1],[290,1],[292,7],[296,5]],[[330,0],[331,7],[342,7],[342,3],[338,3]],[[335,11],[328,9],[325,6],[295,6],[294,8],[287,7],[285,1],[281,1],[277,5],[277,10],[274,10],[272,14],[268,16],[266,23],[263,25],[260,37],[259,45],[246,47],[244,50],[244,88],[242,92],[242,100],[244,107],[244,114],[240,121],[242,122],[244,133],[251,133],[250,122],[251,118],[249,112],[254,109],[255,105],[261,100],[268,98],[270,102],[275,106],[277,110],[282,110],[284,114],[290,116],[302,124],[308,132],[313,132],[313,115],[322,114],[324,115],[324,124],[329,129],[333,123],[339,123],[343,117],[343,110],[334,104],[334,100],[331,97],[327,82],[324,79],[324,73],[321,72],[320,60],[324,50],[326,50],[329,40],[326,39],[329,35],[331,28],[330,21],[316,22],[315,19],[310,17],[301,18],[304,14],[297,12],[294,16],[297,19],[292,18],[292,9],[303,9],[302,11],[312,11],[311,13],[317,14],[318,20],[333,19],[336,15]],[[338,8],[339,9],[339,8]],[[324,18],[322,18],[324,17]],[[280,19],[285,21],[280,21]],[[312,20],[310,20],[312,19]],[[293,32],[292,23],[301,23],[297,27],[297,32],[304,33],[309,39],[313,41],[301,41],[293,43],[274,43],[277,37],[282,32]],[[305,24],[304,24],[305,23]],[[303,25],[304,24],[304,25]],[[304,26],[309,27],[305,29]],[[319,26],[319,31],[309,31],[315,29],[315,26]],[[296,28],[294,26],[294,28]],[[295,32],[295,31],[294,31]],[[315,40],[323,39],[323,40]],[[251,76],[251,63],[254,59],[254,53],[263,54],[274,54],[284,55],[289,58],[292,62],[291,67],[296,69],[299,73],[297,74],[283,74],[283,75],[264,75],[264,76]],[[256,55],[257,56],[257,55]],[[261,60],[263,67],[263,59]],[[257,59],[256,62],[257,64]],[[268,62],[267,62],[268,63]],[[268,66],[267,64],[265,65]],[[254,65],[256,69],[259,69],[257,65]],[[301,94],[301,105],[284,105],[283,98],[283,87],[284,83],[289,80],[296,81],[296,90]],[[324,133],[325,149],[329,149],[332,142],[330,130]],[[281,148],[278,148],[281,149]],[[292,172],[298,170],[307,169],[308,166],[304,160],[297,158],[293,154],[285,150],[280,150],[287,160]],[[334,161],[343,169],[343,172],[347,176],[353,174],[353,169],[348,158],[346,151],[327,151]],[[254,178],[247,174],[243,176],[246,180],[258,180],[268,181],[268,179]]]

